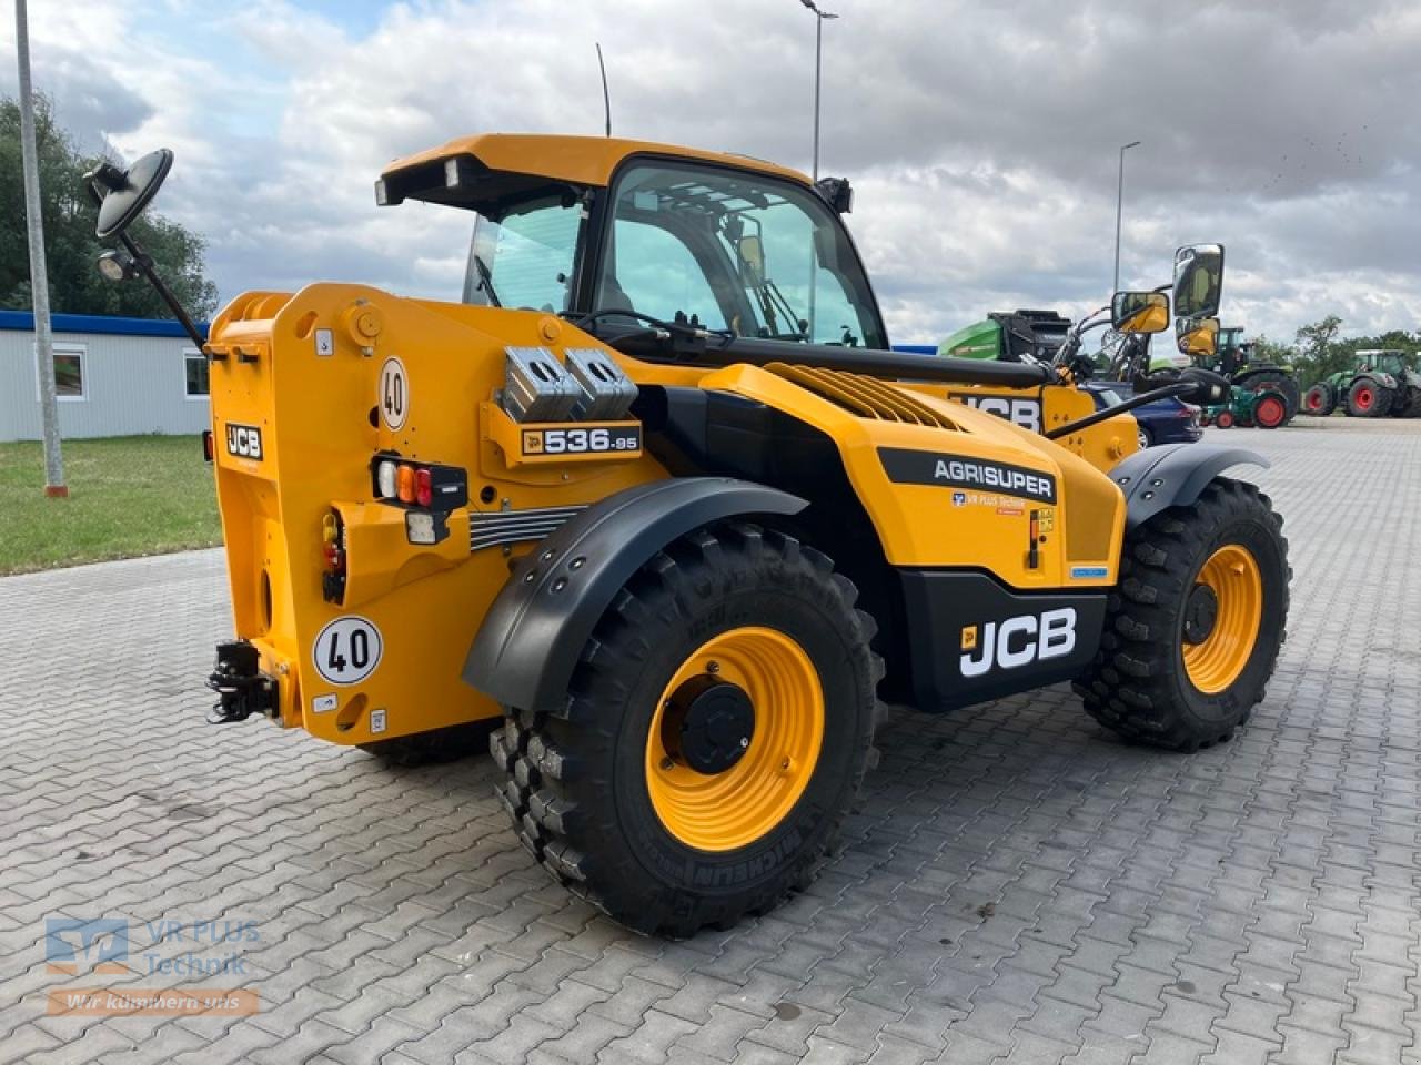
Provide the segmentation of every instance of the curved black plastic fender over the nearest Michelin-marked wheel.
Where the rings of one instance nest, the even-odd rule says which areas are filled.
[[[469,648],[465,683],[503,706],[558,710],[597,621],[657,551],[710,521],[807,506],[733,477],[672,477],[608,496],[514,565]]]

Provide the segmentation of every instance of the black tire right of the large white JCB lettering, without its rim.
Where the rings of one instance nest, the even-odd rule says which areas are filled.
[[[1171,507],[1128,532],[1100,650],[1074,684],[1086,711],[1155,747],[1191,751],[1228,740],[1262,701],[1286,636],[1292,571],[1282,527],[1256,487],[1216,477],[1194,506]],[[1185,613],[1205,561],[1223,547],[1253,557],[1262,611],[1242,672],[1205,693],[1185,666]]]

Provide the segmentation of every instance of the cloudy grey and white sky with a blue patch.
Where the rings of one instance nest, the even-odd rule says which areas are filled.
[[[821,172],[895,342],[1108,298],[1228,246],[1225,324],[1421,328],[1421,3],[826,0]],[[377,209],[389,159],[480,131],[615,132],[809,169],[796,0],[30,0],[37,85],[87,145],[166,145],[159,207],[244,288],[458,298],[469,217]],[[13,20],[0,50],[14,54]],[[0,92],[14,91],[13,62]]]

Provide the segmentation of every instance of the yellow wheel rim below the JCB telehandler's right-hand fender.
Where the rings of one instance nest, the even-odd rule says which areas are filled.
[[[1238,544],[1221,547],[1199,569],[1195,581],[1216,602],[1214,625],[1198,643],[1184,643],[1184,669],[1189,683],[1214,696],[1239,679],[1253,655],[1263,618],[1263,578],[1258,559]]]

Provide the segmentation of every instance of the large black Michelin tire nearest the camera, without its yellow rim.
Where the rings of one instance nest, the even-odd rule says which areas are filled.
[[[506,710],[490,748],[509,774],[497,792],[519,839],[574,893],[649,934],[725,927],[809,883],[858,794],[872,743],[882,665],[870,650],[875,625],[855,598],[827,557],[749,523],[668,545],[603,615],[567,704],[557,714]],[[698,849],[657,812],[648,736],[676,670],[709,639],[745,626],[789,636],[809,656],[823,692],[823,741],[779,822],[733,849]],[[756,706],[756,721],[762,713]]]

